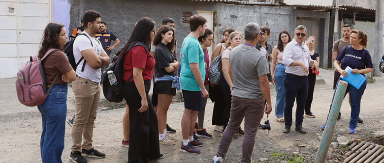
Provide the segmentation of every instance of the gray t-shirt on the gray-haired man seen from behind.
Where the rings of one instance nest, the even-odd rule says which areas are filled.
[[[255,47],[240,45],[231,51],[229,64],[233,76],[232,96],[262,98],[258,77],[269,73],[265,55]]]

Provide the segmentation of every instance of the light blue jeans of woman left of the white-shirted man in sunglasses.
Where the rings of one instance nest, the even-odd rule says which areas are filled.
[[[275,90],[276,90],[276,117],[284,116],[284,107],[286,105],[286,86],[284,80],[286,79],[286,66],[284,64],[276,63],[275,67]]]

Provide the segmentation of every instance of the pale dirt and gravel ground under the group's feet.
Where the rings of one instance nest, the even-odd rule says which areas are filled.
[[[350,119],[350,107],[348,100],[344,100],[341,112],[342,119],[337,122],[335,134],[332,142],[337,142],[338,136],[349,136],[351,139],[364,137],[375,131],[384,130],[384,108],[383,108],[383,83],[368,84],[361,102],[360,117],[364,120],[363,124],[358,124],[357,134],[349,135],[348,123]],[[276,95],[272,92],[273,107]],[[322,131],[320,126],[324,124],[328,113],[329,105],[332,100],[333,90],[329,85],[315,89],[312,112],[316,118],[305,118],[303,127],[308,134],[300,134],[294,131],[294,127],[289,134],[283,134],[284,123],[279,123],[275,119],[274,109],[269,120],[272,130],[269,135],[265,135],[259,130],[256,135],[256,143],[252,155],[254,163],[260,162],[260,158],[266,158],[265,163],[272,163],[277,159],[272,159],[271,154],[285,153],[285,156],[295,154],[304,158],[304,162],[314,162],[317,149],[319,147]],[[347,97],[348,98],[348,97]],[[347,99],[346,98],[346,99]],[[68,103],[73,100],[68,98]],[[107,106],[109,104],[105,104]],[[73,104],[72,104],[73,106]],[[94,145],[99,151],[106,153],[104,159],[89,159],[92,163],[126,163],[128,161],[128,148],[121,146],[123,137],[122,117],[125,108],[103,109],[97,112],[96,128],[94,129]],[[17,109],[17,107],[15,107]],[[103,109],[103,110],[101,110]],[[199,147],[201,154],[189,155],[179,151],[181,145],[181,117],[184,104],[173,102],[168,111],[168,124],[177,130],[172,136],[179,139],[174,146],[160,145],[160,152],[164,158],[157,161],[159,163],[211,163],[220,143],[220,133],[214,132],[212,126],[213,103],[208,100],[205,112],[205,127],[213,138],[200,138],[204,146]],[[37,110],[37,109],[36,109]],[[38,111],[23,113],[4,113],[0,114],[0,162],[2,163],[36,163],[41,162],[39,140],[41,135],[41,117]],[[11,112],[11,111],[10,111]],[[74,109],[68,108],[67,118],[73,115]],[[293,116],[293,120],[295,117]],[[264,116],[263,120],[266,120]],[[244,124],[242,124],[244,126]],[[71,128],[65,127],[65,147],[62,155],[64,163],[69,162],[70,146],[72,144]],[[244,128],[243,128],[244,129]],[[225,163],[238,163],[241,158],[243,137],[234,139],[229,147],[225,158]],[[300,147],[302,146],[302,147]],[[22,154],[22,155],[21,155]],[[342,162],[345,158],[342,148],[330,148],[327,163]]]

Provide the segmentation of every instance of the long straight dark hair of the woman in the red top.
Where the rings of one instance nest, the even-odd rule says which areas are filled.
[[[127,44],[122,49],[122,52],[127,53],[127,49],[130,45],[135,42],[142,42],[147,47],[146,50],[151,46],[151,32],[155,27],[155,21],[152,18],[144,17],[141,18],[136,26],[133,28],[132,34],[129,37]]]

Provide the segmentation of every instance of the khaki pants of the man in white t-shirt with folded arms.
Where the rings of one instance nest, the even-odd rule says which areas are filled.
[[[76,81],[72,81],[72,90],[75,95],[76,117],[72,125],[71,150],[81,152],[81,148],[85,150],[93,148],[92,135],[101,86],[98,82],[77,77]]]

